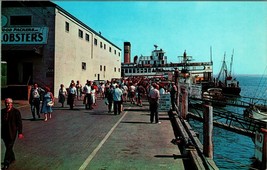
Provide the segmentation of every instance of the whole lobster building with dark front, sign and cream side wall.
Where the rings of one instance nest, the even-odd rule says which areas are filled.
[[[121,77],[121,48],[49,1],[2,1],[1,38],[9,87]]]

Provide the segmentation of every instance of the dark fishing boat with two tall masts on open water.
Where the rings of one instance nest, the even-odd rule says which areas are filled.
[[[228,72],[227,65],[225,62],[226,54],[224,53],[222,67],[217,79],[215,80],[215,87],[221,88],[222,92],[226,95],[239,96],[241,92],[241,88],[239,87],[239,81],[237,81],[236,78],[232,77],[233,54],[231,57],[230,71]]]

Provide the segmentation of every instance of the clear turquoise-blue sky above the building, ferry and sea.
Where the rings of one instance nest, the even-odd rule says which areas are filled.
[[[53,1],[122,49],[150,55],[154,44],[168,62],[184,50],[194,61],[210,61],[220,71],[224,53],[232,72],[267,73],[267,2],[261,1]],[[122,55],[123,61],[123,55]]]

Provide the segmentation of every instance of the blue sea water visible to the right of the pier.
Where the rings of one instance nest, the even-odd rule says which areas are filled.
[[[242,97],[267,99],[267,76],[240,75],[236,76],[241,87]],[[227,106],[224,109],[243,115],[243,108]],[[200,134],[202,140],[202,123],[189,121],[190,125]],[[213,128],[214,161],[219,169],[248,170],[254,158],[254,143],[251,138],[221,128]]]

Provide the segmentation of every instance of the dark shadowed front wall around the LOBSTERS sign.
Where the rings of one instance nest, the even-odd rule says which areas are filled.
[[[53,73],[49,74],[54,67],[54,8],[53,7],[10,7],[2,8],[2,15],[8,18],[5,28],[27,28],[27,27],[47,27],[48,38],[46,44],[3,44],[6,52],[2,56],[8,62],[9,72],[18,71],[19,80],[16,84],[23,84],[22,79],[23,64],[32,64],[32,82],[40,85],[47,85],[53,88]],[[11,16],[29,15],[32,18],[31,25],[14,26],[10,25]],[[32,53],[36,49],[36,53]],[[13,65],[14,64],[14,65]],[[17,66],[17,68],[14,68]],[[12,67],[12,68],[10,68]],[[10,76],[9,76],[10,77]],[[11,82],[11,84],[13,84]]]

